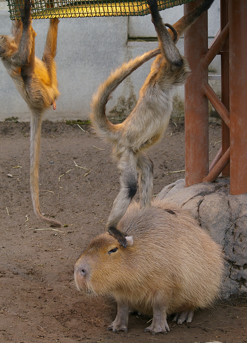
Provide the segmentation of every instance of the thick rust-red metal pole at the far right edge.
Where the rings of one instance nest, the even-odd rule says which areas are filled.
[[[247,1],[229,0],[230,192],[247,193]]]

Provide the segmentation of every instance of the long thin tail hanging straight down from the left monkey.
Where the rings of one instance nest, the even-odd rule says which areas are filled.
[[[52,227],[60,228],[61,223],[53,219],[45,218],[41,215],[40,201],[39,201],[39,160],[41,150],[41,114],[32,113],[30,120],[30,187],[31,197],[33,201],[34,212],[36,216],[50,224]]]

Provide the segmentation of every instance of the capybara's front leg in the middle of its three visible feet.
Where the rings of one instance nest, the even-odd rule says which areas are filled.
[[[168,324],[166,322],[166,310],[165,306],[161,308],[160,306],[154,306],[153,308],[153,321],[152,324],[144,329],[144,332],[151,332],[152,335],[156,334],[167,334],[170,331]]]

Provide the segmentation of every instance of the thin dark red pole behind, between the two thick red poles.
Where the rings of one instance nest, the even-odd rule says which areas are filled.
[[[229,21],[228,2],[220,0],[220,29],[224,30]],[[229,111],[229,40],[221,49],[221,101]],[[230,130],[224,120],[221,121],[222,155],[230,146]],[[230,176],[230,165],[222,171],[222,176]]]

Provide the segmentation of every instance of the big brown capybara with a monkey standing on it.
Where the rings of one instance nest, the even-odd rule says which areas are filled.
[[[109,233],[90,242],[75,265],[80,290],[112,295],[118,314],[108,327],[127,330],[128,310],[153,315],[146,331],[166,333],[166,316],[190,322],[194,310],[217,297],[223,271],[221,248],[184,210],[165,201],[139,208],[132,203],[118,227],[124,248]],[[131,238],[132,237],[132,238]]]

